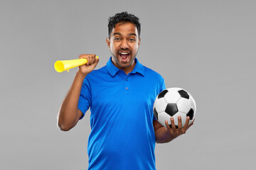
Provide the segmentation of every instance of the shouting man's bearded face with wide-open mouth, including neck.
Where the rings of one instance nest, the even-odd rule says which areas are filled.
[[[107,38],[113,64],[126,73],[132,72],[139,44],[138,30],[133,23],[117,23]]]

